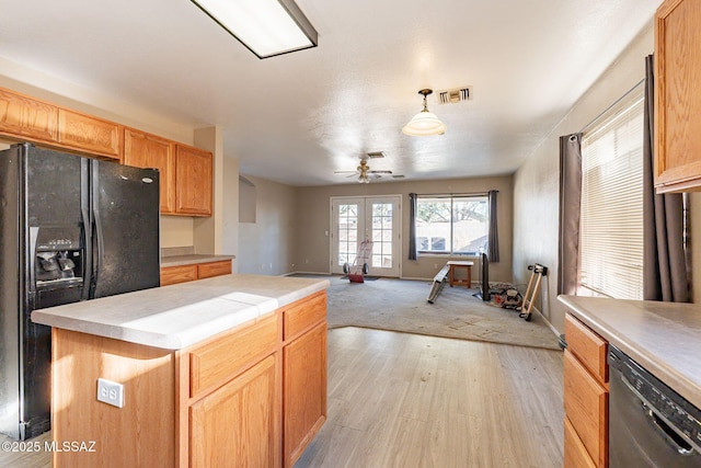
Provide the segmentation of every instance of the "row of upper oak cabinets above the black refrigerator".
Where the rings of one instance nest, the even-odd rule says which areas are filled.
[[[209,151],[0,88],[0,135],[158,169],[161,214],[211,216]]]

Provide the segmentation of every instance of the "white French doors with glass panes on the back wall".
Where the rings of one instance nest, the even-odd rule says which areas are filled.
[[[360,242],[369,240],[368,274],[399,276],[401,196],[332,197],[331,273],[355,264]]]

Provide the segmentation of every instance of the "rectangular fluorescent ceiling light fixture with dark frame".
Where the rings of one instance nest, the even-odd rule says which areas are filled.
[[[192,1],[258,58],[317,47],[317,30],[292,0]]]

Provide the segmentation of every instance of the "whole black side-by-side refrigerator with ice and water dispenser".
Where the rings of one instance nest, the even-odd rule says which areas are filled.
[[[32,310],[160,284],[159,174],[30,144],[0,151],[0,432],[50,429],[50,328]]]

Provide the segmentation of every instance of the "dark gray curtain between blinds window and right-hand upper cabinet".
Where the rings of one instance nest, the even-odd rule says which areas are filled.
[[[655,194],[653,56],[645,58],[643,160],[643,299],[689,301],[683,242],[685,209],[681,194]]]

